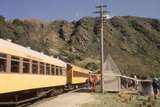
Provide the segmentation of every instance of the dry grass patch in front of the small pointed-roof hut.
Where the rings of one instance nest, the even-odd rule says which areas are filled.
[[[96,101],[81,107],[160,107],[160,98],[148,101],[147,97],[126,93],[95,94]]]

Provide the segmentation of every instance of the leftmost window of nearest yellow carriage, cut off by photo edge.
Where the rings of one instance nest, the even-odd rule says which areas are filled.
[[[0,53],[0,72],[6,72],[6,54]]]

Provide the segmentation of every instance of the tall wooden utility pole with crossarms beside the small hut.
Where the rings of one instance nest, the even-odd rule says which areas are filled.
[[[104,10],[104,8],[106,8],[107,5],[103,5],[101,3],[101,5],[96,6],[96,8],[98,9],[98,11],[96,11],[95,13],[98,13],[99,16],[99,21],[100,21],[100,34],[101,34],[101,38],[100,38],[100,59],[101,59],[101,63],[100,63],[100,71],[101,71],[101,93],[104,93],[104,69],[103,69],[103,63],[104,63],[104,48],[103,48],[103,24],[104,24],[104,15],[105,13],[107,13],[107,11]]]

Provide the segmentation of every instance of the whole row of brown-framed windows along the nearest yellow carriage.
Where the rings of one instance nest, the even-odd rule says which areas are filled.
[[[10,73],[28,73],[30,74],[40,74],[40,75],[65,75],[65,69],[63,67],[52,65],[50,63],[40,62],[37,60],[32,60],[30,58],[0,53],[0,59],[4,60],[4,70],[2,72],[7,72],[7,61],[8,56],[10,56]],[[26,65],[25,65],[26,64]],[[27,67],[25,67],[27,66]],[[27,69],[27,70],[25,70]],[[0,71],[1,72],[1,71]]]

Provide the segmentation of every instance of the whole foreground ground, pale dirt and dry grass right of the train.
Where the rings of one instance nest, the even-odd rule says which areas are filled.
[[[157,100],[148,101],[148,97],[134,91],[101,94],[81,89],[43,99],[29,107],[160,107],[160,95]]]

